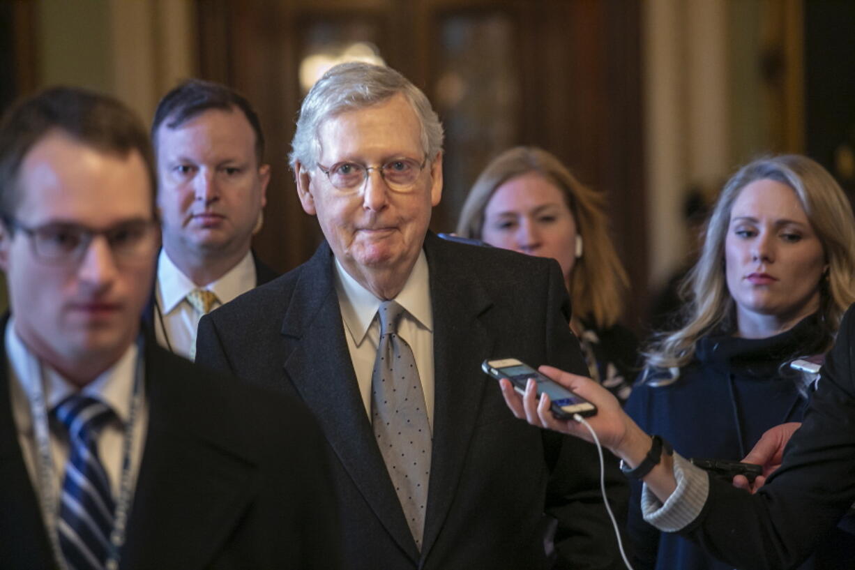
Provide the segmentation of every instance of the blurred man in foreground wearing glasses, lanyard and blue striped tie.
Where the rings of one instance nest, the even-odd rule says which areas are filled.
[[[63,87],[9,110],[0,567],[337,567],[310,413],[140,334],[158,245],[130,110]]]

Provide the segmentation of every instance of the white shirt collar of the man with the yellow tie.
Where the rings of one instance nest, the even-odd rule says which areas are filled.
[[[255,286],[256,263],[252,252],[248,251],[226,275],[202,288],[213,291],[217,300],[225,304]],[[190,277],[173,263],[166,250],[162,249],[157,258],[157,292],[160,294],[163,314],[171,312],[195,288],[198,288],[196,283],[192,282]]]

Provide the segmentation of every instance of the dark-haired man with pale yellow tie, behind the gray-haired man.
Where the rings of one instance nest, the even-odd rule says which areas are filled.
[[[145,316],[163,347],[193,359],[199,318],[276,276],[251,252],[270,166],[249,101],[211,81],[168,92],[151,138],[163,249]]]

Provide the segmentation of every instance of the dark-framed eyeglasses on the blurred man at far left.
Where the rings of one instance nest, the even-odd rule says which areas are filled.
[[[116,260],[133,262],[150,256],[157,244],[154,220],[129,220],[108,229],[91,229],[76,223],[46,223],[34,228],[3,217],[10,232],[21,231],[32,244],[32,253],[48,264],[76,264],[89,250],[91,241],[103,235]]]

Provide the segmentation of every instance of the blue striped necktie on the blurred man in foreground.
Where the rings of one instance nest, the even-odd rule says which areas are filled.
[[[101,570],[109,552],[115,503],[98,459],[97,436],[115,414],[102,401],[79,394],[63,400],[54,413],[68,430],[70,448],[56,525],[60,549],[69,568]]]

